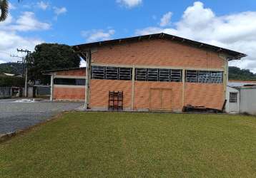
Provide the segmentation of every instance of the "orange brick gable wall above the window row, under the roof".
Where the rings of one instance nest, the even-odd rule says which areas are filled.
[[[93,63],[174,66],[189,68],[224,68],[218,53],[194,48],[165,39],[102,46],[92,53]]]

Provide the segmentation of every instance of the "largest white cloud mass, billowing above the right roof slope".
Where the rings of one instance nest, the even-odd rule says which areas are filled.
[[[217,16],[212,9],[197,1],[184,11],[182,19],[174,23],[173,28],[152,26],[139,29],[136,34],[164,32],[247,53],[242,61],[232,61],[230,65],[256,72],[255,19],[256,11]]]

